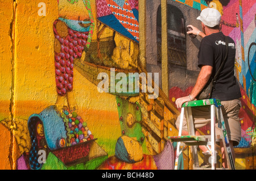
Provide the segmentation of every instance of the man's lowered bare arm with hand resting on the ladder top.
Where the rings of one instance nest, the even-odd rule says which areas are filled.
[[[201,67],[200,73],[197,77],[196,85],[193,87],[190,96],[184,96],[177,99],[175,102],[177,108],[181,108],[183,103],[195,99],[195,97],[201,92],[201,90],[203,90],[204,86],[207,84],[210,75],[212,74],[212,69],[213,67],[210,65],[203,65]]]

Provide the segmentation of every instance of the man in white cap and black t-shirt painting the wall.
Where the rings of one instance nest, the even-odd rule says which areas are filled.
[[[220,31],[220,12],[213,8],[207,8],[201,11],[201,14],[197,19],[201,20],[203,32],[199,31],[196,27],[189,26],[192,28],[192,31],[189,31],[188,33],[203,37],[198,54],[198,66],[201,70],[191,94],[176,100],[178,108],[181,108],[182,104],[185,102],[196,100],[196,96],[203,90],[210,76],[214,77],[216,74],[226,54],[225,36]],[[228,37],[228,41],[228,58],[216,80],[212,98],[221,100],[223,106],[222,112],[230,140],[230,148],[232,148],[232,154],[234,156],[233,146],[238,145],[241,140],[241,125],[238,117],[241,107],[241,92],[237,79],[234,76],[234,61],[236,55],[234,41],[230,37]],[[195,128],[201,128],[210,123],[210,110],[208,107],[204,108],[192,108],[193,117],[195,119]],[[179,121],[180,116],[176,121],[177,128],[179,128]],[[183,135],[186,135],[188,134],[186,130],[187,125],[185,125],[186,120],[184,120],[183,123]],[[196,131],[196,135],[200,135],[200,133]],[[209,158],[210,154],[207,147],[202,145],[199,146],[199,148],[203,151],[205,158]],[[204,163],[201,166],[210,167],[211,165],[209,164],[208,159],[204,159]],[[224,167],[226,167],[225,162]]]

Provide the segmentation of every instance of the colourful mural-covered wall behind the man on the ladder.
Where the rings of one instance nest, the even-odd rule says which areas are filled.
[[[201,39],[185,27],[200,28],[196,17],[208,6],[236,43],[236,169],[256,169],[256,3],[249,0],[167,0],[166,57],[160,0],[0,2],[0,169],[174,169],[175,100],[199,73]],[[159,81],[159,96],[150,99],[150,79],[137,91],[131,73]],[[182,157],[179,168],[191,169],[188,149]]]

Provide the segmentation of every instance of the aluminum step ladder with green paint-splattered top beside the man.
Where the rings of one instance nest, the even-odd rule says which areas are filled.
[[[195,128],[193,124],[192,107],[199,106],[210,106],[210,135],[196,136]],[[182,126],[183,126],[183,116],[187,118],[188,126],[188,136],[182,136]],[[218,127],[215,126],[216,120],[218,121]],[[234,170],[234,159],[232,151],[229,145],[228,134],[226,134],[226,127],[224,123],[224,117],[221,111],[221,102],[218,99],[204,99],[204,100],[194,100],[184,103],[181,107],[180,115],[180,127],[179,136],[168,137],[172,142],[177,142],[176,159],[175,159],[175,170],[177,170],[177,165],[179,162],[179,155],[182,153],[185,146],[191,146],[192,158],[193,158],[193,169],[200,170],[205,169],[199,166],[199,160],[197,155],[197,146],[205,145],[211,154],[211,164],[212,167],[208,169],[216,170],[216,146],[215,143],[222,140],[224,145],[225,155],[228,161],[228,168]],[[220,135],[216,136],[216,129],[220,130]],[[185,146],[180,150],[181,143]],[[211,148],[209,148],[209,146]]]

